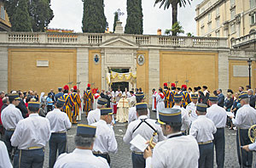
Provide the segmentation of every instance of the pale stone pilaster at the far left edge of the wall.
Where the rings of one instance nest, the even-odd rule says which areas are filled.
[[[8,48],[0,48],[0,60],[0,91],[8,92]]]

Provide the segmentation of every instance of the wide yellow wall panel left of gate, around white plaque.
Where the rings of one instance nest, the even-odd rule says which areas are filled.
[[[77,81],[75,49],[9,48],[8,89],[49,92]],[[49,67],[37,67],[37,60],[49,60]]]

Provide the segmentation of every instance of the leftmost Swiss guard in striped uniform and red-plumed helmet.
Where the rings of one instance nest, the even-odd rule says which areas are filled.
[[[67,85],[65,85],[63,87],[64,91],[64,95],[63,95],[63,99],[66,100],[63,108],[62,108],[62,111],[65,112],[68,116],[68,119],[70,120],[70,122],[72,122],[72,117],[73,117],[73,114],[72,114],[72,109],[73,109],[73,98],[71,97],[70,94],[68,94],[68,90],[69,90],[69,87]]]

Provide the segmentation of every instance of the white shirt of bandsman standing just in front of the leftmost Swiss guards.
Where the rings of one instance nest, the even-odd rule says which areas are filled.
[[[66,132],[67,129],[71,128],[71,122],[67,114],[62,112],[61,109],[49,111],[46,118],[49,120],[50,132]]]

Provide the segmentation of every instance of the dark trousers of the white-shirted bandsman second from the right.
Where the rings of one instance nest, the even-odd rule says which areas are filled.
[[[218,168],[224,167],[225,158],[225,135],[224,128],[218,128],[217,132],[213,134],[214,140],[213,144],[215,146],[216,162]]]

